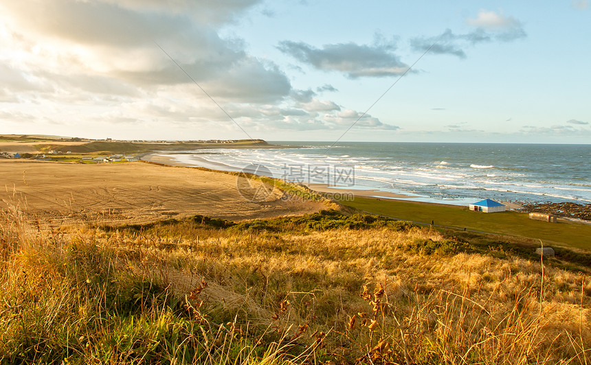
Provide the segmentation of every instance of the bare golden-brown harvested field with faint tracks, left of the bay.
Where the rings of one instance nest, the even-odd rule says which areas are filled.
[[[138,223],[196,214],[238,221],[325,208],[315,202],[280,200],[278,190],[263,202],[251,202],[238,192],[236,176],[142,162],[0,160],[0,188],[2,208],[20,204],[31,217],[54,224]]]

